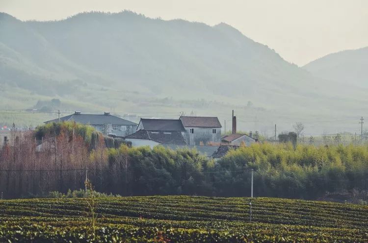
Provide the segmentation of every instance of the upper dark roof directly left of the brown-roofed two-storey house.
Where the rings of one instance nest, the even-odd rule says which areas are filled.
[[[141,119],[140,122],[145,130],[154,131],[185,131],[180,120],[173,119]]]

